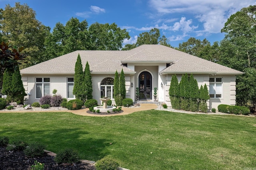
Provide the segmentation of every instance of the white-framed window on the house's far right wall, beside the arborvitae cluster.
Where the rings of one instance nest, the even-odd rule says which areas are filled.
[[[222,98],[222,78],[210,78],[209,82],[210,98]]]

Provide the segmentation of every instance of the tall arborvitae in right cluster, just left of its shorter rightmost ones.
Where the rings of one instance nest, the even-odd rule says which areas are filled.
[[[190,111],[198,111],[198,98],[199,98],[199,89],[198,89],[198,83],[196,79],[194,79],[193,74],[190,74],[189,78],[189,109]]]

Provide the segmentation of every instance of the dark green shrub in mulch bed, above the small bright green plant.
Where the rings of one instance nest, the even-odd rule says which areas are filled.
[[[32,143],[24,150],[24,154],[31,157],[44,156],[44,149],[44,145],[40,143]]]

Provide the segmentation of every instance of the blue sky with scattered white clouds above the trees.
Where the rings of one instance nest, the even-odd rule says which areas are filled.
[[[28,4],[36,19],[51,30],[57,22],[65,25],[72,17],[89,25],[116,23],[131,36],[124,44],[132,44],[140,33],[156,27],[174,47],[190,37],[206,38],[211,44],[221,41],[220,30],[230,15],[256,5],[255,0],[0,0],[0,8],[15,2]]]

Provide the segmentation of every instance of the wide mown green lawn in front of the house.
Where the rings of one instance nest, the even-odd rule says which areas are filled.
[[[75,149],[80,159],[108,156],[131,170],[255,169],[255,124],[256,117],[157,110],[113,117],[0,113],[0,135],[10,141],[40,142],[55,153]]]

